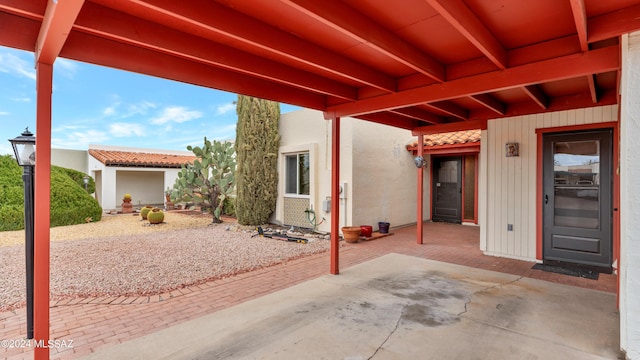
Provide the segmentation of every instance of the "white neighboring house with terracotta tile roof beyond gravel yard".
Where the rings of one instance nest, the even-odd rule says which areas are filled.
[[[134,206],[163,204],[165,190],[173,188],[180,167],[195,156],[188,151],[89,145],[88,151],[53,149],[51,159],[54,165],[91,175],[96,199],[109,211],[119,208],[127,193]]]

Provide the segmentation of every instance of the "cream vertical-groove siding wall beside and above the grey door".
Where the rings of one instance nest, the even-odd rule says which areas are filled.
[[[617,121],[617,109],[604,106],[489,121],[482,132],[478,190],[481,250],[488,255],[535,260],[536,129]],[[520,156],[505,156],[508,142],[520,143]],[[513,231],[507,231],[508,224],[513,224]]]

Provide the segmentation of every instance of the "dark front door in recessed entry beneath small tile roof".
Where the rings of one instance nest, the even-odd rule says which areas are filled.
[[[434,157],[433,221],[462,222],[462,158]]]

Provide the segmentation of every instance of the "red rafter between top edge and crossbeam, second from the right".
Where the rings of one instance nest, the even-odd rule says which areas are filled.
[[[506,50],[462,0],[426,1],[499,69],[506,69]]]

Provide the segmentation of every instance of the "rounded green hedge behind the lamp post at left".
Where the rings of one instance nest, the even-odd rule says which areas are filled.
[[[84,190],[86,174],[51,166],[51,226],[100,221],[102,208]],[[93,179],[90,184],[94,186]],[[11,155],[0,156],[0,231],[24,229],[22,169]],[[91,186],[89,188],[91,190]]]

